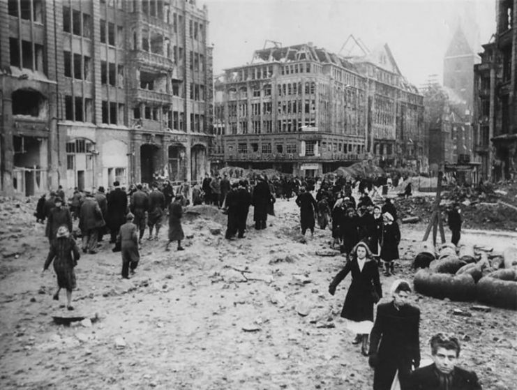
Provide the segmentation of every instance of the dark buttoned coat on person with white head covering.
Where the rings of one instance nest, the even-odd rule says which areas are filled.
[[[405,305],[397,310],[393,301],[377,305],[377,315],[370,333],[370,354],[382,361],[394,359],[420,364],[420,310]]]

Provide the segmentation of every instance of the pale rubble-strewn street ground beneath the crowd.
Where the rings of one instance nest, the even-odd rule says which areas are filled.
[[[329,248],[330,231],[301,243],[297,207],[278,200],[267,230],[250,228],[245,239],[227,241],[225,216],[211,207],[197,211],[183,223],[186,250],[165,253],[164,228],[160,241],[144,242],[130,280],[119,277],[120,253],[106,240],[100,253],[82,256],[73,303],[75,314],[96,318],[91,326],[52,320],[63,309],[52,301],[52,267],[40,275],[43,225],[29,217],[22,232],[1,241],[24,250],[4,257],[0,268],[0,388],[370,389],[373,370],[339,317],[350,276],[334,297],[327,292],[343,257],[316,255]],[[5,222],[3,229],[13,230]],[[395,277],[382,277],[384,292],[397,277],[412,279],[414,240],[424,229],[403,225],[403,260]],[[483,239],[494,250],[516,242],[488,233],[463,239]],[[463,340],[461,366],[475,370],[484,389],[516,389],[514,311],[414,300],[423,358],[433,333],[454,331]],[[472,316],[452,315],[455,308]]]

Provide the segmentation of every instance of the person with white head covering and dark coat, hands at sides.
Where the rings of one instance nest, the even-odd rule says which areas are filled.
[[[396,280],[391,285],[393,301],[377,306],[370,334],[368,363],[375,368],[373,390],[390,390],[398,373],[401,390],[407,386],[412,366],[420,366],[420,310],[409,304],[410,284]]]

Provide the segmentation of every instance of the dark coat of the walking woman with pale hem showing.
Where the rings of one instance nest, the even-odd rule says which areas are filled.
[[[337,285],[348,273],[352,273],[352,283],[348,288],[341,317],[352,321],[373,321],[373,288],[375,288],[379,297],[382,297],[377,263],[373,260],[367,260],[364,263],[363,271],[360,271],[359,264],[354,257],[345,264],[345,267],[332,280],[330,290],[336,290]]]

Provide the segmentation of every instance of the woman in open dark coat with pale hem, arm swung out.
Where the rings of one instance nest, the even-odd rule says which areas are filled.
[[[347,328],[357,334],[352,343],[361,343],[361,353],[367,356],[368,334],[373,327],[373,305],[382,297],[382,287],[379,269],[366,243],[361,241],[354,247],[352,258],[329,285],[331,295],[334,295],[336,287],[348,273],[352,273],[352,283],[341,317],[347,319]]]

